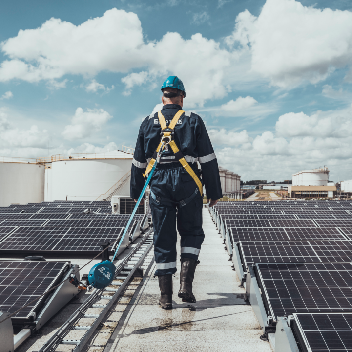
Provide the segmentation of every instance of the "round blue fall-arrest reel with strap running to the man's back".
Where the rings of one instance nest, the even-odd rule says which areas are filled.
[[[134,215],[136,214],[136,211],[138,209],[138,206],[139,204],[141,203],[141,200],[144,196],[144,193],[145,193],[145,190],[146,188],[148,187],[148,184],[150,182],[150,179],[151,179],[151,176],[153,176],[153,173],[154,173],[154,170],[160,160],[160,156],[163,154],[164,152],[164,147],[167,143],[166,142],[163,142],[160,146],[160,149],[158,151],[158,156],[155,160],[155,163],[153,165],[153,168],[150,170],[150,173],[148,175],[148,178],[145,182],[145,185],[143,187],[143,190],[141,192],[141,195],[139,196],[138,200],[137,200],[137,203],[133,209],[133,212],[127,222],[127,225],[126,225],[126,228],[124,229],[124,233],[121,237],[121,240],[116,248],[116,251],[115,251],[115,254],[111,260],[111,262],[109,260],[104,260],[103,262],[101,263],[98,263],[98,264],[95,264],[89,271],[89,275],[88,275],[88,281],[89,281],[89,284],[91,286],[93,286],[94,288],[105,288],[107,286],[109,286],[112,281],[114,280],[114,276],[115,276],[115,270],[116,270],[116,267],[115,265],[112,263],[116,257],[116,254],[118,253],[118,250],[120,248],[120,245],[121,243],[123,242],[124,240],[124,236],[126,235],[127,231],[128,231],[128,228],[129,228],[129,225],[131,224],[131,221],[134,217]],[[107,250],[107,249],[106,249]]]

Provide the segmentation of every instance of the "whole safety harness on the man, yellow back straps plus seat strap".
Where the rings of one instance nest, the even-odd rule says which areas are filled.
[[[179,161],[181,163],[181,165],[183,166],[183,168],[187,171],[187,173],[193,178],[194,182],[197,185],[197,189],[192,193],[192,195],[190,197],[186,198],[185,200],[181,200],[180,202],[174,202],[174,201],[166,199],[166,198],[155,196],[154,193],[150,192],[150,195],[152,196],[152,198],[155,201],[157,201],[158,203],[165,204],[165,205],[179,204],[180,206],[184,206],[184,205],[186,205],[187,202],[189,202],[191,199],[193,199],[198,194],[198,190],[199,190],[201,196],[203,195],[202,181],[199,179],[199,177],[196,175],[196,173],[193,171],[193,169],[187,163],[184,155],[182,154],[182,152],[177,147],[177,145],[174,141],[174,134],[175,134],[174,128],[177,124],[177,121],[179,120],[179,118],[181,117],[181,115],[184,112],[185,111],[183,111],[183,110],[177,111],[175,116],[173,117],[172,121],[168,125],[168,127],[166,126],[165,117],[163,116],[161,111],[158,112],[158,118],[159,118],[159,122],[160,122],[160,126],[161,126],[160,135],[162,137],[161,137],[160,143],[158,145],[158,148],[154,152],[143,176],[146,177],[146,175],[148,175],[150,170],[153,168],[153,165],[154,165],[155,160],[158,155],[157,151],[160,149],[162,143],[165,142],[165,150],[167,151],[167,146],[170,145],[172,152],[175,154],[175,161]]]

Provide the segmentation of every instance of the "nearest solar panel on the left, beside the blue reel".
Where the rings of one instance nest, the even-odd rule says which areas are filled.
[[[66,262],[0,261],[0,309],[13,313],[22,308],[55,286],[67,266]],[[26,319],[30,313],[38,313],[46,298],[43,296],[11,319]]]

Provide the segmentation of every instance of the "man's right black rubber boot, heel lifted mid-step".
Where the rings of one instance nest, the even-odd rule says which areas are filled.
[[[181,272],[180,272],[180,290],[179,297],[182,298],[182,302],[195,303],[196,298],[192,292],[192,283],[194,279],[194,273],[196,266],[200,261],[196,261],[190,258],[181,258]]]

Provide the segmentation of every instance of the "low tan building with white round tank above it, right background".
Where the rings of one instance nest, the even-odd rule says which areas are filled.
[[[333,198],[336,196],[336,185],[328,180],[327,167],[300,171],[292,175],[288,195],[290,198]]]

